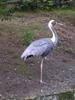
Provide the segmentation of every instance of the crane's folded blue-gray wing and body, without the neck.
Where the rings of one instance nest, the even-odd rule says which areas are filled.
[[[32,42],[28,48],[23,52],[21,58],[28,58],[30,56],[46,56],[53,48],[53,43],[50,38],[43,38]]]

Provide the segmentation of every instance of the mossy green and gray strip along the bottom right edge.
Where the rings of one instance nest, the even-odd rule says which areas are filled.
[[[25,98],[26,100],[75,100],[74,93],[71,91],[63,92],[59,94],[43,95],[43,96],[31,96]]]

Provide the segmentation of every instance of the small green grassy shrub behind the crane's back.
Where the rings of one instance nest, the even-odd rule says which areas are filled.
[[[23,34],[23,44],[28,46],[31,43],[33,36],[34,36],[34,33],[32,29],[26,28]]]

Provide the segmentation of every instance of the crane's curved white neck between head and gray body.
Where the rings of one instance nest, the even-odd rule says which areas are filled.
[[[51,32],[52,32],[52,34],[53,34],[51,40],[52,40],[54,46],[56,46],[56,44],[58,43],[58,35],[57,35],[57,32],[56,32],[56,30],[54,29],[54,27],[53,27],[52,24],[49,25],[49,29],[51,30]]]

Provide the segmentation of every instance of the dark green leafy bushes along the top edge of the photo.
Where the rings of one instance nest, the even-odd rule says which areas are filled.
[[[11,1],[12,1],[12,4],[14,5],[14,8],[11,6]],[[52,10],[52,8],[75,7],[75,0],[18,0],[15,3],[14,1],[16,0],[0,0],[0,8],[1,6],[6,6],[5,13],[11,14],[12,12],[16,10],[36,11],[37,9]],[[11,8],[7,9],[7,6],[9,4]]]

